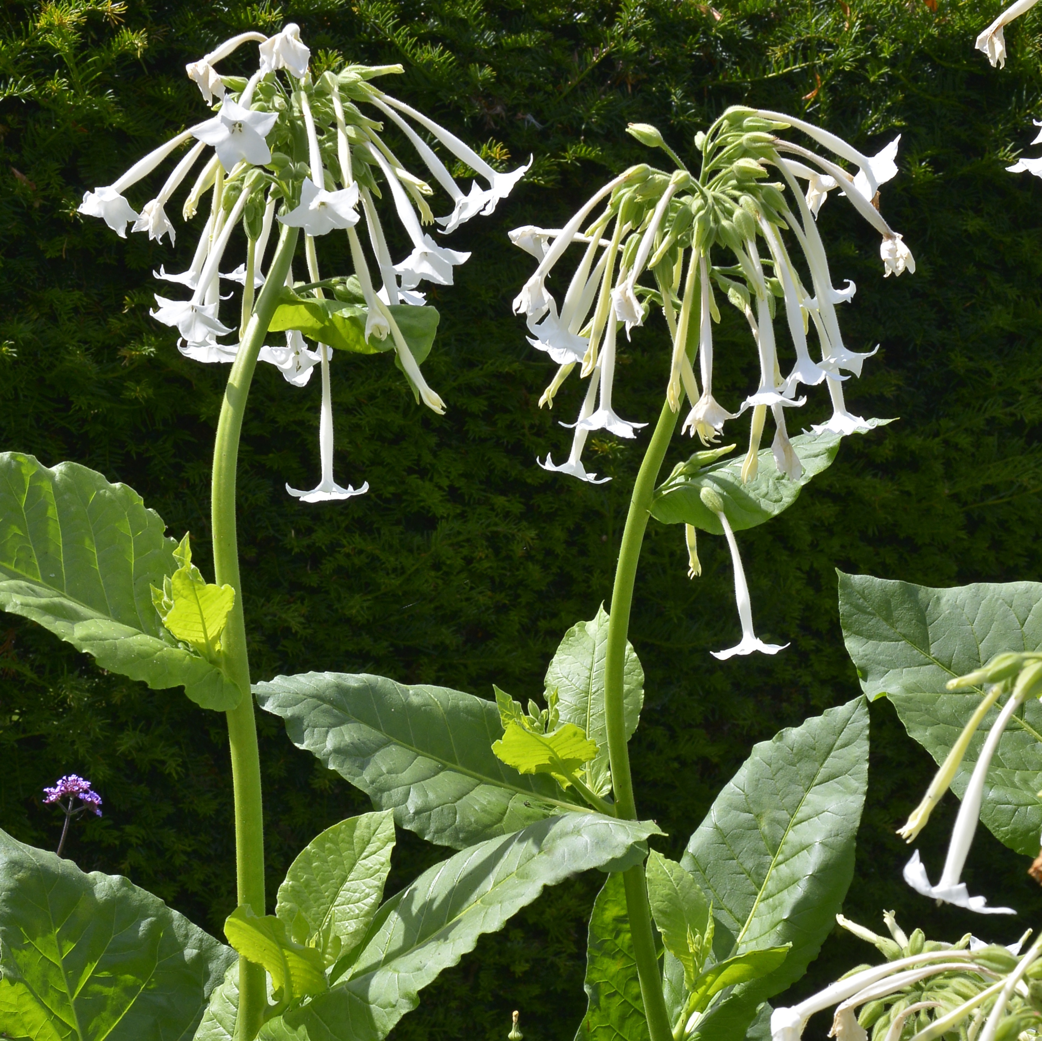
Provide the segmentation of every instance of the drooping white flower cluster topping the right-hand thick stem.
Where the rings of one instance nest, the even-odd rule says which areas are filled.
[[[802,131],[836,158],[778,137],[778,131],[788,128]],[[684,428],[710,444],[728,420],[751,410],[745,470],[751,478],[769,410],[776,430],[773,448],[778,469],[796,479],[800,463],[789,442],[785,410],[805,402],[805,397],[798,396],[801,387],[824,382],[832,397],[833,416],[815,426],[816,431],[845,435],[867,430],[877,422],[852,416],[844,403],[843,381],[847,374],[860,375],[869,355],[850,351],[843,343],[836,305],[853,296],[854,286],[849,281],[843,289],[833,286],[816,217],[828,192],[840,190],[880,233],[885,274],[899,275],[905,268],[914,271],[909,248],[877,209],[879,185],[897,172],[894,156],[899,139],[877,155],[867,156],[802,120],[735,107],[708,133],[696,137],[701,153],[696,175],[654,127],[635,124],[629,130],[642,143],[666,150],[677,169],[631,167],[597,191],[564,228],[526,226],[511,232],[515,245],[539,261],[514,309],[525,316],[529,343],[559,367],[540,403],[552,406],[554,395],[576,366],[590,380],[578,419],[565,424],[575,431],[568,460],[555,464],[547,455],[540,465],[599,482],[581,462],[587,436],[607,430],[632,438],[644,425],[615,412],[616,343],[621,326],[628,336],[635,325],[645,322],[652,307],[659,307],[673,341],[667,397],[674,412],[685,395],[690,404]],[[840,162],[851,164],[855,171],[849,172]],[[767,179],[771,169],[780,181]],[[798,187],[798,180],[805,182],[805,190]],[[793,262],[783,237],[786,230],[791,230],[802,253],[803,271]],[[581,255],[559,300],[547,282],[573,244],[581,247]],[[645,276],[650,276],[651,284],[641,282]],[[735,412],[714,396],[717,291],[747,319],[760,363],[758,386]],[[785,308],[795,353],[785,375],[774,330],[776,300]],[[810,325],[820,343],[819,361],[812,358],[808,348]],[[700,388],[693,367],[696,355]]]

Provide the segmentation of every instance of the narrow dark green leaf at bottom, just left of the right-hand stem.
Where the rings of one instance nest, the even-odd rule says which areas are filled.
[[[621,874],[611,874],[594,901],[587,944],[589,997],[575,1041],[646,1041],[647,1018]]]

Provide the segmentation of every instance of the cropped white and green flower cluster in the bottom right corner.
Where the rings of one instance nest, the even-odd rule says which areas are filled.
[[[815,1013],[835,1007],[829,1037],[838,1041],[975,1041],[1035,1036],[1042,1025],[1038,981],[1042,938],[1027,952],[1019,943],[987,944],[966,934],[958,943],[926,940],[921,930],[905,936],[892,912],[884,913],[890,937],[877,936],[837,915],[840,925],[876,946],[888,959],[861,966],[799,1005],[771,1014],[772,1041],[799,1041]]]

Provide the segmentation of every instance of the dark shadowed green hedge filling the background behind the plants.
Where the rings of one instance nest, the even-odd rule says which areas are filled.
[[[473,262],[454,287],[430,293],[442,326],[425,372],[445,417],[414,403],[388,356],[336,358],[337,475],[368,480],[368,495],[323,505],[286,495],[286,481],[309,487],[317,476],[319,388],[289,387],[260,367],[240,480],[250,655],[258,678],[370,671],[538,695],[565,629],[609,596],[646,431],[636,445],[593,439],[588,466],[615,478],[602,487],[536,466],[537,453],[567,452],[556,420],[573,418],[578,390],[566,386],[552,414],[538,408],[551,365],[511,315],[531,261],[506,230],[560,226],[611,173],[648,158],[624,134],[628,121],[656,124],[681,154],[739,102],[803,115],[868,152],[901,133],[901,172],[883,207],[918,272],[884,282],[877,238],[842,198],[820,219],[836,277],[859,287],[841,316],[847,342],[882,345],[865,377],[847,385],[848,400],[900,422],[848,439],[792,510],[742,537],[760,635],[792,646],[772,659],[712,659],[738,633],[725,546],[703,539],[702,577],[691,583],[679,529],[649,530],[631,631],[647,674],[634,769],[641,812],[669,833],[662,848],[676,856],[753,742],[857,694],[836,567],[938,586],[1039,577],[1042,185],[1002,168],[1038,110],[1040,23],[1017,22],[1006,70],[992,70],[972,42],[999,6],[172,0],[121,11],[99,0],[9,0],[0,16],[0,449],[126,481],[171,534],[191,530],[208,572],[209,450],[227,370],[181,358],[172,330],[147,315],[151,270],[185,267],[192,233],[176,249],[122,241],[76,205],[84,189],[109,183],[201,118],[184,63],[233,32],[293,19],[313,52],[400,61],[393,93],[482,143],[492,162],[531,154],[535,164],[492,218],[453,236]],[[733,406],[754,369],[738,319],[724,315],[717,352],[717,396]],[[635,330],[620,362],[618,411],[653,419],[665,329]],[[821,416],[818,391],[802,425]],[[669,465],[688,451],[678,441]],[[368,807],[293,748],[277,720],[259,722],[273,894],[317,832]],[[882,909],[895,907],[909,928],[938,939],[976,928],[1009,942],[1038,924],[1042,894],[1026,864],[988,835],[967,881],[1020,909],[1016,920],[938,911],[903,888],[907,852],[893,828],[918,801],[929,763],[885,702],[872,726],[846,913],[882,927]],[[89,776],[105,816],[76,825],[70,854],[85,869],[129,875],[220,933],[234,902],[221,716],[179,692],[101,674],[5,615],[0,762],[0,826],[54,845],[60,821],[41,789],[63,773]],[[920,840],[932,874],[952,816],[948,802]],[[389,891],[440,857],[401,835]],[[585,1007],[585,916],[599,881],[562,886],[485,938],[424,992],[395,1037],[499,1038],[518,1008],[529,1041],[570,1038]],[[873,953],[830,938],[795,990]]]

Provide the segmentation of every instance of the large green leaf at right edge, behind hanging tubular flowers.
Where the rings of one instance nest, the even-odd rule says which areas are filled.
[[[909,734],[941,763],[984,694],[944,685],[1000,651],[1042,647],[1042,584],[931,589],[841,572],[840,620],[865,693],[887,695]],[[998,712],[985,718],[951,783],[960,798]],[[988,829],[1027,856],[1038,852],[1042,829],[1040,755],[1042,705],[1032,699],[998,743],[981,807]]]

